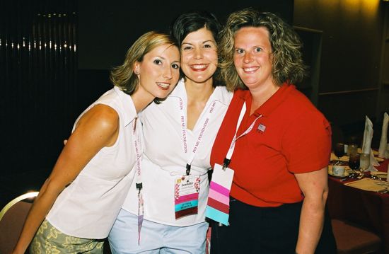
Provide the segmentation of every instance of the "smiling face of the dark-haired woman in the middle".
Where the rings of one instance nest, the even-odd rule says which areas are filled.
[[[211,31],[201,28],[189,33],[181,44],[181,69],[187,79],[204,83],[216,71],[217,47]]]

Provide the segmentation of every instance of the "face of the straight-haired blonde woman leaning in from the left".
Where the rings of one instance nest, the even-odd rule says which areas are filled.
[[[180,78],[180,52],[174,45],[160,45],[144,55],[142,62],[134,64],[139,73],[139,90],[144,96],[165,98]]]

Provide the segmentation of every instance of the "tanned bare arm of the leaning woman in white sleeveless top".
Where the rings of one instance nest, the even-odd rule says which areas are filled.
[[[115,144],[118,131],[117,112],[107,105],[95,105],[81,117],[28,213],[14,254],[25,253],[58,195],[100,149]]]

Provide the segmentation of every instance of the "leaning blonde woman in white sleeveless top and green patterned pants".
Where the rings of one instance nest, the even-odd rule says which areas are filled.
[[[111,72],[114,88],[76,120],[13,253],[25,253],[30,241],[30,253],[103,253],[141,154],[137,113],[168,96],[179,69],[170,35],[149,32],[134,42]]]

